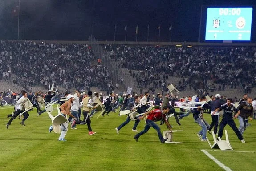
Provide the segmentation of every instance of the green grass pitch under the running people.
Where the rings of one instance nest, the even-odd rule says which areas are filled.
[[[223,168],[201,149],[209,150],[233,171],[255,170],[255,152],[211,151],[208,143],[197,137],[200,127],[192,115],[182,119],[181,126],[174,118],[170,119],[173,130],[183,129],[174,133],[174,140],[183,144],[161,144],[153,128],[135,142],[135,132],[131,131],[133,121],[117,134],[115,127],[126,119],[126,116],[119,117],[118,113],[98,119],[94,116],[91,126],[97,134],[89,136],[87,126],[78,125],[77,130],[69,129],[65,137],[67,142],[60,142],[58,134],[48,132],[51,125],[48,114],[37,117],[35,109],[29,112],[26,127],[16,118],[7,130],[6,116],[12,111],[12,107],[0,107],[0,171],[222,171]],[[209,114],[204,117],[211,123]],[[250,123],[252,125],[244,133],[246,143],[241,143],[226,126],[235,151],[256,151],[256,121]],[[142,131],[144,125],[142,121],[138,131]],[[164,125],[160,127],[162,131],[167,130]],[[207,133],[207,137],[212,140],[212,135]]]

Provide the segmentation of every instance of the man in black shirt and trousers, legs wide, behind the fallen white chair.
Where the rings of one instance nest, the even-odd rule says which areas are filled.
[[[224,127],[228,124],[232,128],[232,130],[236,133],[237,138],[240,139],[242,143],[245,143],[245,141],[243,139],[243,136],[241,135],[241,133],[237,129],[236,123],[233,120],[232,113],[233,113],[233,111],[237,112],[238,110],[236,109],[236,107],[231,105],[231,101],[232,101],[232,99],[228,99],[227,104],[225,104],[225,105],[215,109],[215,111],[213,111],[213,113],[215,113],[216,111],[224,110],[223,118],[222,118],[221,122],[219,123],[218,136],[220,138],[222,137]]]

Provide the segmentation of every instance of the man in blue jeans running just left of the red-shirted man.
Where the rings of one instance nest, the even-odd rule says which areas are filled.
[[[135,96],[134,99],[135,99],[135,101],[134,101],[134,102],[131,102],[131,103],[129,104],[129,106],[127,107],[127,110],[133,111],[134,107],[139,104],[140,98],[139,98],[138,96]],[[137,108],[137,112],[140,114],[140,113],[144,113],[145,111],[143,111],[141,107],[138,107],[138,108]],[[135,119],[137,119],[137,117],[136,117]],[[117,133],[119,134],[120,129],[121,129],[122,127],[126,126],[130,121],[131,121],[131,119],[130,119],[130,117],[129,117],[129,115],[128,115],[126,121],[124,121],[121,125],[119,125],[118,127],[115,128],[115,130],[117,131]],[[136,128],[137,128],[137,126],[138,126],[138,124],[139,124],[139,121],[140,121],[140,119],[135,120],[135,123],[134,123],[134,126],[133,126],[133,128],[132,128],[132,131],[138,132]]]

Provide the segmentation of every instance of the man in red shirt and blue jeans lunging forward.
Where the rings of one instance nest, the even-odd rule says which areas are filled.
[[[169,112],[169,108],[167,106],[165,106],[165,107],[163,107],[163,111],[161,111],[160,109],[154,109],[152,111],[146,112],[143,116],[140,116],[139,119],[143,119],[144,117],[146,117],[146,115],[148,115],[148,117],[146,119],[146,126],[145,126],[143,131],[134,135],[134,139],[136,141],[138,141],[138,138],[141,135],[147,133],[147,131],[150,129],[150,127],[153,127],[157,131],[160,142],[164,143],[167,139],[163,138],[163,135],[161,133],[161,129],[155,122],[162,120],[166,123],[167,127],[171,130],[170,123],[168,123],[168,121],[166,119],[166,114],[168,112]]]

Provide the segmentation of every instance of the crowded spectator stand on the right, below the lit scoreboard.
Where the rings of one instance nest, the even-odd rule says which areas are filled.
[[[181,77],[173,83],[179,91],[193,88],[213,92],[242,86],[250,93],[256,82],[255,47],[105,45],[105,49],[122,68],[130,70],[138,88],[165,88],[168,76],[176,76]]]

